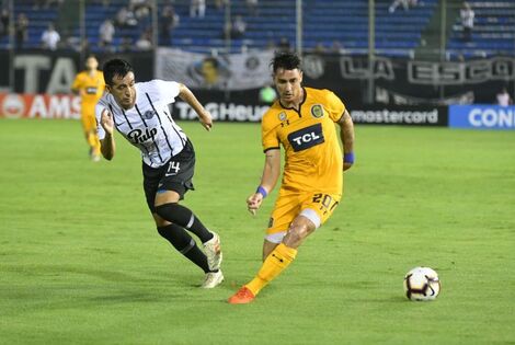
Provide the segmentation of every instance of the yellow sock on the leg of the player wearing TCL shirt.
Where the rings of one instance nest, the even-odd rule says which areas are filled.
[[[258,275],[250,283],[245,284],[247,288],[256,296],[262,288],[277,277],[288,265],[295,260],[297,250],[281,243],[270,253],[261,266]]]

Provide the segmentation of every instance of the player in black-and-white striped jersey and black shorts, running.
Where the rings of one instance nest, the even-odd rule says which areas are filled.
[[[102,156],[112,160],[115,154],[114,130],[141,151],[145,196],[159,234],[204,271],[203,288],[216,287],[224,280],[220,238],[179,204],[193,189],[195,151],[168,105],[179,96],[207,130],[213,126],[211,115],[182,83],[136,82],[133,67],[125,60],[108,60],[103,72],[108,93],[95,108]],[[198,237],[204,252],[186,230]]]

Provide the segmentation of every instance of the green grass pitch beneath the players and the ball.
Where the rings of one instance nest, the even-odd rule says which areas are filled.
[[[0,120],[1,344],[514,344],[515,135],[356,127],[334,216],[249,306],[226,299],[261,264],[275,193],[245,198],[264,156],[256,124],[180,123],[197,151],[185,205],[222,238],[214,290],[162,240],[137,150],[93,163],[79,122]],[[434,302],[403,296],[435,268]]]

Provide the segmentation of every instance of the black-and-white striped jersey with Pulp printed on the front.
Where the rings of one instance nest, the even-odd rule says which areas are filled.
[[[162,166],[182,151],[187,140],[168,107],[179,95],[179,83],[156,79],[138,82],[135,88],[136,103],[128,111],[119,107],[111,93],[99,101],[95,107],[99,138],[105,137],[100,118],[107,110],[113,114],[116,130],[141,151],[144,162],[152,168]]]

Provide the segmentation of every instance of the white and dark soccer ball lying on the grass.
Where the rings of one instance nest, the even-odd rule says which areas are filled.
[[[415,267],[404,277],[405,297],[412,301],[431,301],[439,294],[439,279],[430,267]]]

